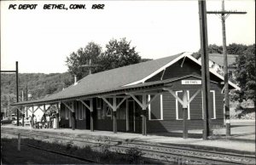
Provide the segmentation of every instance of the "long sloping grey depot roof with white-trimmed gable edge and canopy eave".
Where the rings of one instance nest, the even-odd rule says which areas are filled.
[[[44,104],[76,97],[95,97],[96,94],[109,94],[120,90],[124,91],[129,88],[152,88],[160,86],[167,82],[157,81],[153,83],[145,83],[145,81],[150,77],[154,77],[154,75],[163,71],[166,67],[176,63],[177,60],[180,60],[183,57],[188,57],[198,65],[201,65],[198,60],[195,60],[195,58],[191,56],[190,53],[176,54],[158,60],[149,60],[135,65],[127,65],[108,71],[90,74],[79,80],[78,83],[65,88],[59,93],[51,94],[40,100],[18,102],[13,105]],[[218,75],[218,73],[214,71],[211,72],[217,77],[224,79]],[[239,89],[234,83],[230,83],[230,85],[233,88]]]

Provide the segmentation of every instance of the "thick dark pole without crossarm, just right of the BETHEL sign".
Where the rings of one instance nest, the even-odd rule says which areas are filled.
[[[207,37],[207,2],[199,0],[199,20],[201,37],[201,80],[203,97],[203,139],[210,135],[210,73],[208,56],[208,37]]]

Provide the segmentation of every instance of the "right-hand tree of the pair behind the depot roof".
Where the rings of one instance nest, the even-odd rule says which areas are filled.
[[[131,48],[131,41],[127,42],[125,38],[120,41],[112,39],[106,45],[106,51],[101,54],[97,71],[107,71],[113,68],[137,64],[141,61],[135,47]]]

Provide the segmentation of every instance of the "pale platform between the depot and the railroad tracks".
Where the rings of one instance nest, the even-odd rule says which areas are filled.
[[[2,128],[18,128],[18,129],[31,129],[30,127],[17,127],[13,125],[3,125]],[[182,137],[171,137],[160,134],[148,134],[147,136],[143,136],[142,134],[131,134],[131,133],[121,133],[113,134],[113,132],[109,131],[94,131],[90,132],[90,130],[81,130],[76,129],[72,130],[70,128],[43,128],[43,129],[32,129],[32,131],[47,131],[47,132],[55,132],[55,133],[66,133],[66,134],[74,134],[74,135],[92,135],[92,136],[108,136],[113,139],[123,139],[123,140],[143,140],[146,142],[172,145],[196,145],[198,147],[202,147],[206,149],[206,147],[210,148],[218,148],[224,150],[235,150],[235,151],[249,151],[255,152],[255,121],[235,121],[231,123],[231,137],[230,139],[220,138],[220,139],[198,139],[198,138],[188,138],[183,139]],[[170,134],[181,134],[181,132],[173,132]],[[201,135],[201,130],[189,130],[189,134],[198,134]],[[218,129],[218,134],[220,137],[224,135],[224,129]]]

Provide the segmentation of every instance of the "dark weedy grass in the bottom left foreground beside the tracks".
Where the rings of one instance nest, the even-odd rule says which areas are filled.
[[[21,139],[21,143],[27,145],[35,145],[44,149],[51,151],[61,151],[62,153],[71,154],[73,156],[83,157],[85,159],[94,160],[96,162],[107,163],[107,164],[127,164],[127,163],[143,163],[142,152],[137,148],[132,148],[126,151],[126,154],[119,152],[112,152],[109,150],[108,145],[102,145],[97,147],[96,150],[92,150],[90,145],[85,147],[78,147],[73,145],[72,141],[67,143],[54,140],[52,143],[44,142],[38,139]],[[67,159],[63,159],[60,156],[53,156],[51,159],[51,153],[43,153],[37,149],[31,149],[25,145],[21,145],[21,151],[17,151],[17,139],[1,139],[1,144],[3,145],[3,163],[26,163],[27,160],[34,163],[75,163],[69,162]],[[41,153],[42,152],[42,153]],[[46,152],[46,151],[45,151]],[[49,157],[48,157],[49,154]],[[15,159],[13,159],[15,157]],[[55,158],[54,158],[55,157]],[[57,158],[56,158],[57,157]],[[59,162],[61,161],[61,162]],[[42,164],[41,163],[41,164]],[[81,164],[81,162],[77,162]]]

